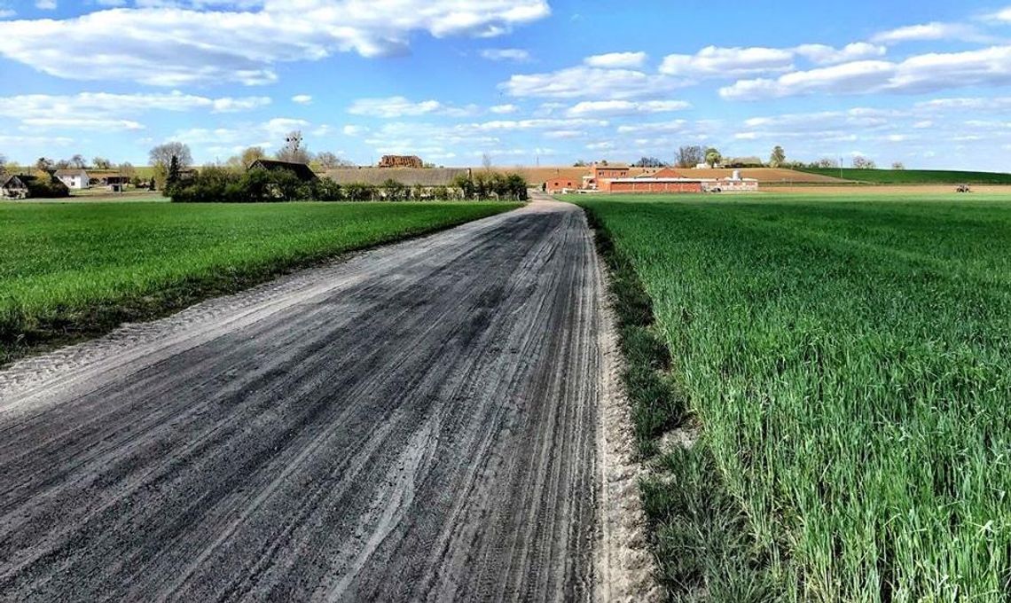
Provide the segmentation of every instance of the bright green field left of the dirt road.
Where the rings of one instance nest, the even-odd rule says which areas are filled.
[[[0,364],[511,203],[0,203]]]

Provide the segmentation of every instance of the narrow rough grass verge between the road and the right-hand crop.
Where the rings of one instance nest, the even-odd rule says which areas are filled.
[[[726,490],[677,385],[669,349],[654,327],[652,298],[607,227],[592,209],[583,211],[608,274],[623,357],[619,387],[645,467],[639,495],[656,580],[672,601],[774,600],[780,589],[767,561],[756,557],[747,517]]]

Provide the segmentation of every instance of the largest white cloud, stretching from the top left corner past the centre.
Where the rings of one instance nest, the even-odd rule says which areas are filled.
[[[0,21],[0,56],[66,79],[252,85],[276,81],[278,63],[388,56],[405,52],[418,31],[489,36],[550,14],[546,0],[264,0],[255,12],[235,2],[223,11],[190,6]]]

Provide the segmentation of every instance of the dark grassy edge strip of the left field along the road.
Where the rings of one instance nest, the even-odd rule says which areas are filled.
[[[503,203],[503,206],[511,208],[501,212],[515,210],[517,207],[513,205],[515,204]],[[274,261],[239,270],[222,270],[212,275],[185,277],[153,293],[127,295],[113,302],[96,304],[73,315],[31,317],[33,324],[28,329],[10,327],[27,319],[23,311],[19,312],[19,309],[14,308],[4,313],[7,316],[0,314],[0,368],[29,356],[108,335],[122,325],[163,319],[201,302],[239,293],[286,274],[345,262],[372,249],[421,239],[473,221],[474,219],[462,218],[432,228],[391,233],[380,240],[341,251]]]

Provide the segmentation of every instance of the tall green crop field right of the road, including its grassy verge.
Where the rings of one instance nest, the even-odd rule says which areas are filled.
[[[674,600],[1011,597],[1011,196],[579,203]]]

